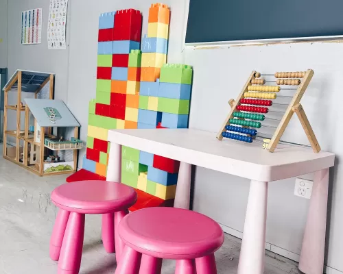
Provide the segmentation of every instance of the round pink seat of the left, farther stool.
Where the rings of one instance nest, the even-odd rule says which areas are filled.
[[[128,209],[137,201],[137,193],[120,183],[80,181],[55,188],[51,200],[70,212],[104,214]]]

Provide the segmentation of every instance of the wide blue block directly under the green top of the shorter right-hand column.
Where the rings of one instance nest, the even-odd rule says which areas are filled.
[[[191,99],[191,85],[160,83],[158,97],[189,100]]]

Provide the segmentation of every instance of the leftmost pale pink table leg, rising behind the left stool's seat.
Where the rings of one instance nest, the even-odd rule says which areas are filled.
[[[121,145],[115,142],[110,143],[106,180],[109,182],[121,182]]]

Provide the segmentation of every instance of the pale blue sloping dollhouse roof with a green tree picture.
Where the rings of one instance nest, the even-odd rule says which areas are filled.
[[[40,127],[80,127],[63,101],[26,98],[25,103]]]

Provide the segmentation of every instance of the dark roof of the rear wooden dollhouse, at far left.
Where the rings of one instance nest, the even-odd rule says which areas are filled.
[[[54,73],[40,73],[37,71],[23,71],[21,69],[17,70],[10,80],[7,82],[3,90],[7,88],[10,83],[12,82],[12,79],[16,77],[16,75],[21,71],[21,91],[23,92],[36,92],[40,86],[45,82],[45,80],[50,77],[51,74]],[[11,87],[11,90],[16,90],[18,88],[18,81],[14,83],[14,85]]]

